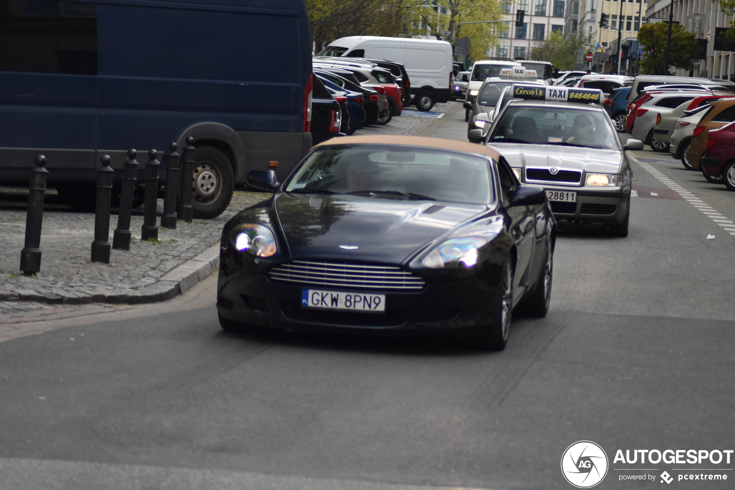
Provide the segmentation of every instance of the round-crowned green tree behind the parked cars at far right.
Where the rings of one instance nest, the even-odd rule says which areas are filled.
[[[638,31],[638,42],[643,47],[643,57],[636,62],[641,74],[668,74],[669,66],[683,70],[693,70],[692,56],[699,50],[697,40],[692,32],[684,30],[683,26],[673,24],[671,29],[671,48],[669,52],[669,66],[664,65],[666,58],[666,43],[669,24],[643,24]]]

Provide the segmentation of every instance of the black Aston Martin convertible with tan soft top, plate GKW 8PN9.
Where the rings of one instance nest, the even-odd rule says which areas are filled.
[[[222,328],[451,331],[505,347],[514,306],[542,317],[556,221],[492,148],[428,137],[317,145],[223,229]]]

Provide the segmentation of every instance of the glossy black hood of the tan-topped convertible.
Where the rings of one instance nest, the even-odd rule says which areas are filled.
[[[273,205],[293,257],[384,263],[403,262],[450,228],[487,211],[477,204],[356,195],[279,194]]]

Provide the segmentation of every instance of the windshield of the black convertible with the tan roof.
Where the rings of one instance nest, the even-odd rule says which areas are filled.
[[[318,148],[298,168],[286,192],[473,204],[495,199],[487,159],[393,145]]]

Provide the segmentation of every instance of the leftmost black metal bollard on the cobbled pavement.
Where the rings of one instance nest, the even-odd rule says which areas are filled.
[[[36,156],[36,166],[31,170],[28,187],[28,215],[26,215],[26,246],[21,251],[21,271],[32,275],[41,270],[41,222],[43,221],[43,197],[46,193],[46,175],[49,170],[46,156]]]

